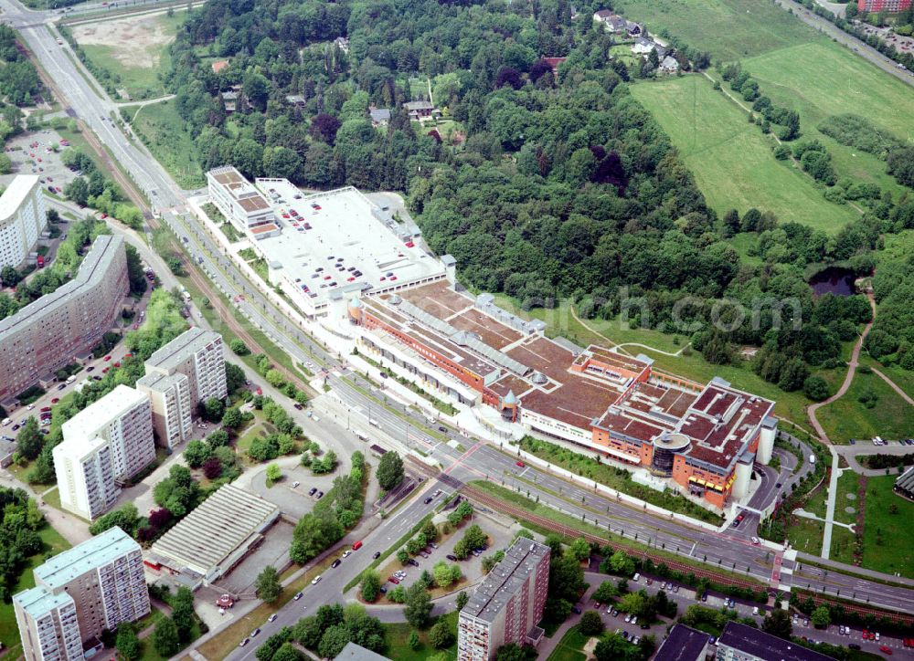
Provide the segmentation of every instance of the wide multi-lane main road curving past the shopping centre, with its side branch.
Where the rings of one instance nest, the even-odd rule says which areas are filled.
[[[531,496],[539,496],[541,502],[576,516],[583,515],[585,519],[595,519],[598,525],[608,526],[614,531],[622,530],[627,537],[635,534],[639,540],[646,537],[652,546],[665,546],[667,551],[675,551],[678,547],[679,553],[691,555],[695,559],[703,560],[707,555],[707,562],[711,566],[716,565],[718,559],[722,567],[729,564],[732,568],[735,563],[738,571],[745,571],[746,566],[749,566],[750,575],[762,581],[768,580],[771,574],[771,560],[766,558],[766,554],[769,551],[752,545],[749,540],[733,534],[730,530],[727,533],[696,531],[684,524],[654,517],[647,512],[632,509],[609,498],[572,486],[535,468],[528,467],[523,476],[518,476],[514,470],[514,460],[510,456],[505,456],[490,446],[473,446],[472,439],[458,436],[465,446],[473,446],[473,451],[460,456],[459,451],[439,443],[427,431],[423,431],[427,423],[421,414],[407,407],[390,404],[393,408],[401,409],[398,413],[393,413],[379,404],[386,393],[377,391],[370,383],[359,383],[356,377],[346,373],[345,366],[339,362],[340,357],[328,355],[303,329],[282,316],[282,313],[254,289],[250,282],[239,275],[227,257],[222,257],[221,249],[187,214],[185,194],[142,144],[132,142],[108,119],[110,113],[115,111],[116,105],[103,92],[101,97],[97,95],[80,74],[77,65],[74,64],[75,60],[68,57],[69,48],[58,46],[56,34],[43,25],[46,19],[55,16],[27,10],[15,0],[0,0],[0,8],[3,8],[5,18],[14,26],[23,26],[23,37],[50,77],[59,85],[64,96],[63,101],[69,110],[86,121],[96,132],[111,150],[113,157],[131,174],[138,188],[152,201],[154,209],[173,227],[175,234],[187,237],[186,247],[200,267],[206,271],[213,284],[225,292],[229,299],[243,295],[244,299],[237,303],[239,313],[260,326],[293,360],[310,361],[325,366],[329,372],[327,381],[335,395],[341,399],[346,414],[363,418],[370,415],[377,423],[372,426],[378,432],[394,440],[399,446],[421,446],[423,451],[433,453],[432,456],[441,461],[453,477],[464,480],[485,475],[503,476],[506,485],[517,485],[525,491],[529,489]],[[342,409],[338,414],[342,414]],[[383,544],[385,538],[397,539],[398,530],[408,529],[425,511],[419,500],[402,509],[396,517],[377,530],[377,544]],[[371,543],[376,543],[374,537],[371,538]],[[349,580],[345,575],[355,575],[360,571],[359,565],[363,561],[362,566],[367,565],[367,555],[368,553],[356,553],[355,559],[349,559],[342,565],[351,570],[337,570],[314,586],[307,600],[308,606],[313,608],[317,603],[324,603],[324,600],[338,601],[339,587]],[[784,566],[790,569],[790,562],[785,561]],[[817,574],[814,568],[810,570],[805,566],[795,576],[795,582],[808,582],[818,590],[827,588],[829,593],[840,589],[843,597],[856,593],[859,599],[863,599],[859,595],[864,594],[873,605],[914,612],[914,591],[867,582],[837,572],[829,572],[825,576]],[[294,619],[297,619],[297,616]],[[254,645],[250,645],[250,649],[245,650],[245,653],[252,654],[253,647]]]

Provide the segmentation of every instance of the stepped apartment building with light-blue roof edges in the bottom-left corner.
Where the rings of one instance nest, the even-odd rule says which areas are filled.
[[[120,528],[58,553],[13,603],[27,661],[81,658],[105,629],[149,614],[140,545]]]

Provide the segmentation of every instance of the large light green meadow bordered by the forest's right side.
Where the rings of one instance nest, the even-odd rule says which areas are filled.
[[[751,69],[749,69],[751,70]],[[778,161],[770,137],[704,76],[632,85],[632,96],[654,114],[670,136],[707,204],[723,215],[756,207],[781,222],[835,232],[859,214],[825,200],[813,180],[791,161]],[[762,86],[765,89],[765,86]]]

